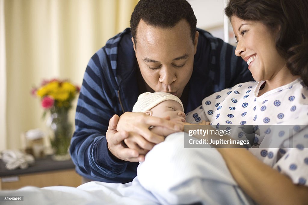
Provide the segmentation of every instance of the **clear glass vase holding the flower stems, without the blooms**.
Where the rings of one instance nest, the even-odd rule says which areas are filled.
[[[69,146],[72,136],[72,125],[68,119],[69,108],[52,107],[50,109],[50,119],[47,121],[49,127],[49,137],[55,161],[65,161],[71,158]]]

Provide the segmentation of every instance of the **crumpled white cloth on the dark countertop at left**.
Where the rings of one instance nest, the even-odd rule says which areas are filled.
[[[32,155],[23,153],[19,150],[4,150],[0,154],[0,159],[6,163],[5,167],[9,170],[17,168],[26,169],[29,167],[29,164],[35,162]]]

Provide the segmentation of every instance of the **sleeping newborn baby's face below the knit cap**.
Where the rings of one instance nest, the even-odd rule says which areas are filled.
[[[152,116],[155,117],[166,117],[170,116],[170,120],[179,120],[181,122],[186,122],[185,113],[182,110],[180,103],[172,100],[167,100],[161,102],[151,109],[153,112]]]

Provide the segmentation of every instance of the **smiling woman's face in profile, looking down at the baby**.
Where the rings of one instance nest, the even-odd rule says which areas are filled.
[[[242,20],[236,16],[231,17],[231,24],[238,42],[235,54],[247,62],[256,81],[272,80],[278,73],[287,70],[286,60],[276,49],[279,29],[273,31],[261,22]]]

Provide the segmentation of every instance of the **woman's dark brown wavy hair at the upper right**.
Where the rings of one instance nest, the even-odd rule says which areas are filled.
[[[308,86],[308,0],[230,0],[225,14],[260,21],[269,30],[280,27],[277,50]]]

